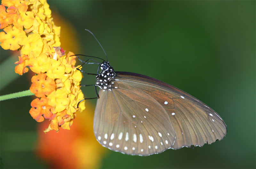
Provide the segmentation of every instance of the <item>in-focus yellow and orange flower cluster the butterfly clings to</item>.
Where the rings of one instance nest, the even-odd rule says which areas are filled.
[[[76,111],[84,110],[80,89],[82,74],[76,70],[76,56],[60,48],[60,27],[54,25],[46,0],[2,0],[0,5],[0,46],[20,50],[15,72],[32,77],[30,91],[36,95],[30,115],[37,121],[51,120],[48,128],[70,129]],[[78,66],[79,67],[79,66]]]

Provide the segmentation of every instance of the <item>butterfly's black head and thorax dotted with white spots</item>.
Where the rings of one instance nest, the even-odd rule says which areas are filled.
[[[96,86],[99,86],[101,89],[111,90],[110,81],[115,80],[116,72],[107,61],[102,62],[100,69],[100,74],[96,76]]]

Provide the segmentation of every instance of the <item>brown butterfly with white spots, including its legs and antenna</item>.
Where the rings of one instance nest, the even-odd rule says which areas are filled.
[[[98,100],[93,130],[102,146],[148,156],[170,148],[201,147],[226,136],[227,127],[220,115],[192,95],[145,75],[116,72],[108,59],[98,58],[102,63],[78,59],[83,64],[99,64],[97,74],[93,74],[96,84],[85,86],[95,86]]]

